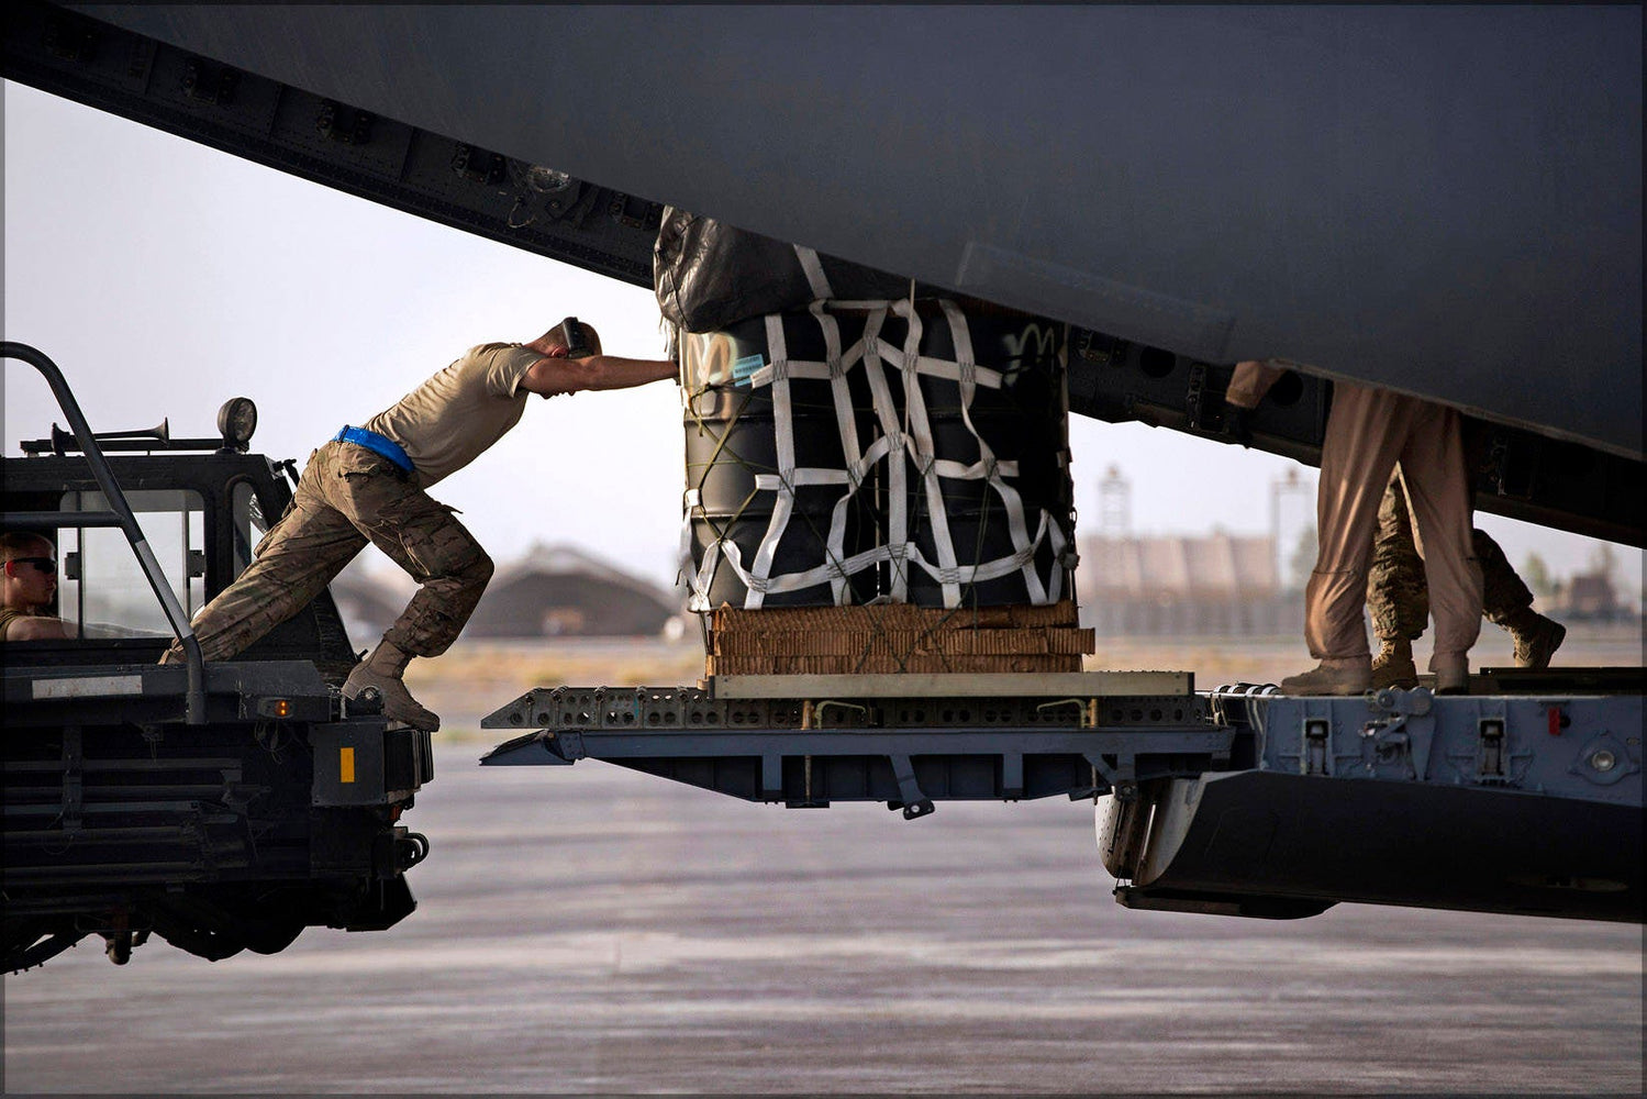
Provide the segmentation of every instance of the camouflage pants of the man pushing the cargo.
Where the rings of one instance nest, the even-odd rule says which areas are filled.
[[[194,616],[204,657],[226,661],[296,615],[367,540],[422,585],[384,641],[413,656],[445,652],[492,577],[491,557],[387,458],[331,442],[310,456],[252,564]],[[166,659],[181,657],[173,644]]]

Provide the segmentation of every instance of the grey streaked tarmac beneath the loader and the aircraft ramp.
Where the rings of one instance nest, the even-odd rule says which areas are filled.
[[[781,809],[446,743],[387,933],[5,979],[7,1094],[1642,1092],[1642,928],[1113,903],[1094,806]],[[1439,840],[1441,837],[1438,837]]]

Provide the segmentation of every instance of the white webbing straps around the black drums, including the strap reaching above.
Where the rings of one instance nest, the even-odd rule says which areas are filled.
[[[828,282],[822,267],[807,265],[805,249],[797,247],[802,267],[807,269],[814,288],[820,285],[827,292]],[[815,267],[815,272],[814,272]],[[814,277],[815,275],[815,277]],[[697,489],[685,496],[685,524],[682,529],[682,567],[692,588],[688,606],[695,611],[713,610],[710,606],[710,585],[715,570],[725,560],[746,588],[744,610],[758,610],[768,595],[799,592],[817,585],[830,585],[833,601],[848,601],[848,578],[865,568],[873,568],[883,562],[891,564],[891,598],[907,601],[911,564],[926,570],[929,577],[942,585],[944,606],[957,608],[967,585],[983,580],[996,580],[1015,572],[1021,572],[1024,588],[1031,603],[1056,603],[1064,596],[1064,572],[1072,567],[1069,540],[1062,524],[1041,509],[1034,516],[1034,534],[1031,535],[1031,517],[1026,514],[1023,498],[1006,483],[1005,478],[1018,476],[1016,461],[1001,461],[985,443],[972,422],[972,402],[977,389],[1000,389],[1005,377],[1000,371],[978,366],[973,361],[972,333],[967,318],[954,302],[942,302],[944,321],[949,325],[955,359],[935,359],[921,354],[922,318],[909,300],[888,302],[814,302],[812,316],[819,323],[825,361],[810,362],[791,359],[784,336],[784,318],[769,315],[766,318],[766,343],[771,362],[756,369],[749,376],[751,387],[769,387],[772,397],[772,420],[776,433],[776,473],[754,475],[756,491],[772,493],[772,511],[766,535],[754,554],[754,560],[744,562],[743,552],[728,539],[720,537],[705,547],[698,567],[692,568],[692,522],[702,519],[702,498]],[[866,311],[863,338],[851,348],[840,346],[840,326],[832,308],[850,308]],[[881,336],[888,316],[906,321],[903,346],[896,346]],[[1056,341],[1057,330],[1029,330],[1024,343],[1031,339]],[[1018,348],[1023,351],[1023,348]],[[848,374],[861,366],[870,384],[875,402],[875,414],[879,435],[868,447],[858,438],[858,423],[853,415],[851,394],[848,390]],[[898,402],[893,400],[889,371],[896,371],[903,382],[903,415],[898,414]],[[963,465],[960,461],[939,460],[934,455],[932,427],[927,417],[926,400],[921,395],[919,376],[944,377],[954,381],[960,392],[960,415],[967,430],[977,440],[978,460]],[[830,384],[832,399],[840,428],[842,453],[845,468],[796,466],[794,407],[791,399],[791,379],[815,379]],[[690,407],[690,397],[688,397]],[[907,456],[907,461],[904,460]],[[847,516],[851,498],[858,493],[870,470],[886,461],[886,544],[851,557],[845,557]],[[1061,455],[1062,460],[1062,455]],[[927,560],[917,544],[909,537],[907,489],[909,478],[917,478],[924,491],[927,512],[932,519],[932,540],[937,560]],[[962,565],[950,535],[950,524],[944,506],[942,479],[985,481],[1000,499],[1006,517],[1006,531],[1011,535],[1013,552],[988,562]],[[825,560],[802,570],[772,575],[772,559],[784,531],[796,514],[796,489],[804,486],[840,484],[842,496],[835,501],[830,516],[830,529],[824,535]],[[1052,567],[1043,580],[1036,568],[1036,554],[1043,545],[1049,545]]]

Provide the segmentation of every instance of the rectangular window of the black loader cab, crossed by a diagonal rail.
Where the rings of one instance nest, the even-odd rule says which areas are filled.
[[[206,504],[193,489],[125,494],[186,616],[206,600]],[[160,598],[119,527],[76,527],[72,512],[107,511],[102,493],[64,493],[58,529],[58,615],[82,638],[171,636]]]

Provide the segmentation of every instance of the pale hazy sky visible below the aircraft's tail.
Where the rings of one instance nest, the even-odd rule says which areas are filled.
[[[259,407],[254,450],[301,465],[468,346],[532,339],[568,313],[608,351],[662,353],[646,290],[18,84],[3,94],[5,338],[63,367],[92,430],[170,417],[175,435],[214,435],[217,405],[245,395]],[[7,362],[0,394],[7,455],[63,422],[25,364]],[[1314,483],[1290,460],[1164,428],[1074,417],[1071,437],[1082,531],[1110,465],[1131,481],[1140,534],[1263,534],[1271,483],[1288,470]],[[682,488],[680,399],[665,382],[534,400],[433,494],[499,564],[572,542],[669,583]],[[1517,565],[1537,550],[1556,573],[1599,545],[1497,516],[1479,524]],[[1614,550],[1639,587],[1640,552]]]

